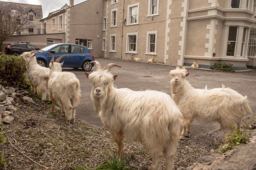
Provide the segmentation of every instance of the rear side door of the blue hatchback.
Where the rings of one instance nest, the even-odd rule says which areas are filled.
[[[69,55],[69,65],[70,67],[82,67],[84,55],[84,47],[70,45],[71,53]]]

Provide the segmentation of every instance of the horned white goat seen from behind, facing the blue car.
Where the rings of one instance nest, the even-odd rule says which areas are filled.
[[[50,63],[50,77],[48,82],[49,99],[52,101],[52,112],[55,109],[55,101],[59,100],[62,106],[62,113],[66,116],[66,124],[74,123],[76,115],[76,107],[80,102],[80,83],[76,75],[71,72],[61,72],[63,65],[59,61],[68,55],[60,56],[54,61],[54,56]],[[67,114],[66,114],[67,110]]]

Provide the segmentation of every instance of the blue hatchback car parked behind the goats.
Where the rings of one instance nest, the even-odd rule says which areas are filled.
[[[43,67],[48,67],[52,60],[51,55],[47,54],[47,52],[52,53],[54,59],[61,55],[69,55],[61,59],[61,62],[64,62],[62,67],[82,68],[83,71],[90,71],[94,66],[94,64],[90,63],[91,61],[94,61],[94,56],[85,46],[61,43],[52,44],[42,48],[40,51],[41,53],[37,52],[35,56],[37,58],[37,63]]]

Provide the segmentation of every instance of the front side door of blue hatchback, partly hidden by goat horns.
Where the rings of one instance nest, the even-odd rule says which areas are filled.
[[[60,45],[60,46],[54,47],[54,48],[50,49],[49,51],[51,51],[51,50],[55,51],[55,53],[53,53],[54,61],[55,61],[56,58],[58,58],[62,55],[69,55],[68,48],[69,48],[69,45],[65,44],[65,45]],[[50,62],[51,59],[52,59],[51,56],[48,54],[48,62]],[[60,63],[62,63],[62,62],[64,62],[62,67],[68,67],[69,66],[69,56],[62,58],[60,60]]]

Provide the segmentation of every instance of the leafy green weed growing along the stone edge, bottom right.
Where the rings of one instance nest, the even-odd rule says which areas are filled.
[[[234,126],[232,126],[231,128],[234,129]],[[235,149],[237,145],[240,145],[242,143],[249,143],[249,137],[249,132],[243,133],[240,130],[234,130],[233,134],[227,134],[225,143],[219,146],[215,152],[225,153],[228,150]]]

